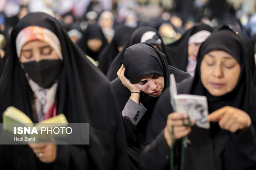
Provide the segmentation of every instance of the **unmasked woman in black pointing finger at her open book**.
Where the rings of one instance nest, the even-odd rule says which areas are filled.
[[[232,25],[222,27],[202,43],[195,77],[178,84],[177,90],[178,94],[207,97],[210,129],[184,126],[182,119],[188,115],[172,113],[170,92],[166,90],[154,108],[147,129],[140,156],[141,169],[170,169],[172,142],[174,168],[179,169],[180,138],[186,135],[190,143],[184,149],[184,169],[256,168],[256,91],[252,84],[252,55],[250,42]]]

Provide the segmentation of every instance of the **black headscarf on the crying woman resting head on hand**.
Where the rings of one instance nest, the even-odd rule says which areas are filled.
[[[149,46],[149,47],[148,47]],[[151,48],[150,48],[151,47]],[[164,77],[169,86],[168,75],[170,70],[164,54],[152,48],[152,45],[139,43],[127,48],[122,55],[122,63],[126,68],[124,75],[131,83],[146,74],[159,74]]]

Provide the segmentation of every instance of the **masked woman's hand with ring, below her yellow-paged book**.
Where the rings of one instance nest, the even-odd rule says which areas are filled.
[[[51,163],[56,160],[57,156],[57,145],[54,141],[52,144],[42,145],[42,144],[30,144],[30,148],[33,149],[36,156],[44,163]]]

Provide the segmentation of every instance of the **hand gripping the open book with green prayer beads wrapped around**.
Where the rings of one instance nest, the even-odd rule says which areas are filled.
[[[171,147],[172,140],[171,140],[171,132],[172,132],[172,125],[173,125],[173,143],[177,139],[180,139],[191,131],[191,127],[187,127],[183,125],[182,119],[184,119],[184,124],[188,125],[188,115],[186,113],[170,113],[167,118],[166,127],[164,128],[164,137],[169,147]],[[190,119],[191,125],[194,125],[195,120]]]

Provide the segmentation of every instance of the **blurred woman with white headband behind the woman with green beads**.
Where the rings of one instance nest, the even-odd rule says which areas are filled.
[[[166,45],[166,52],[170,56],[172,66],[194,76],[198,49],[201,43],[210,36],[212,30],[209,25],[198,24],[186,31],[174,43]]]

